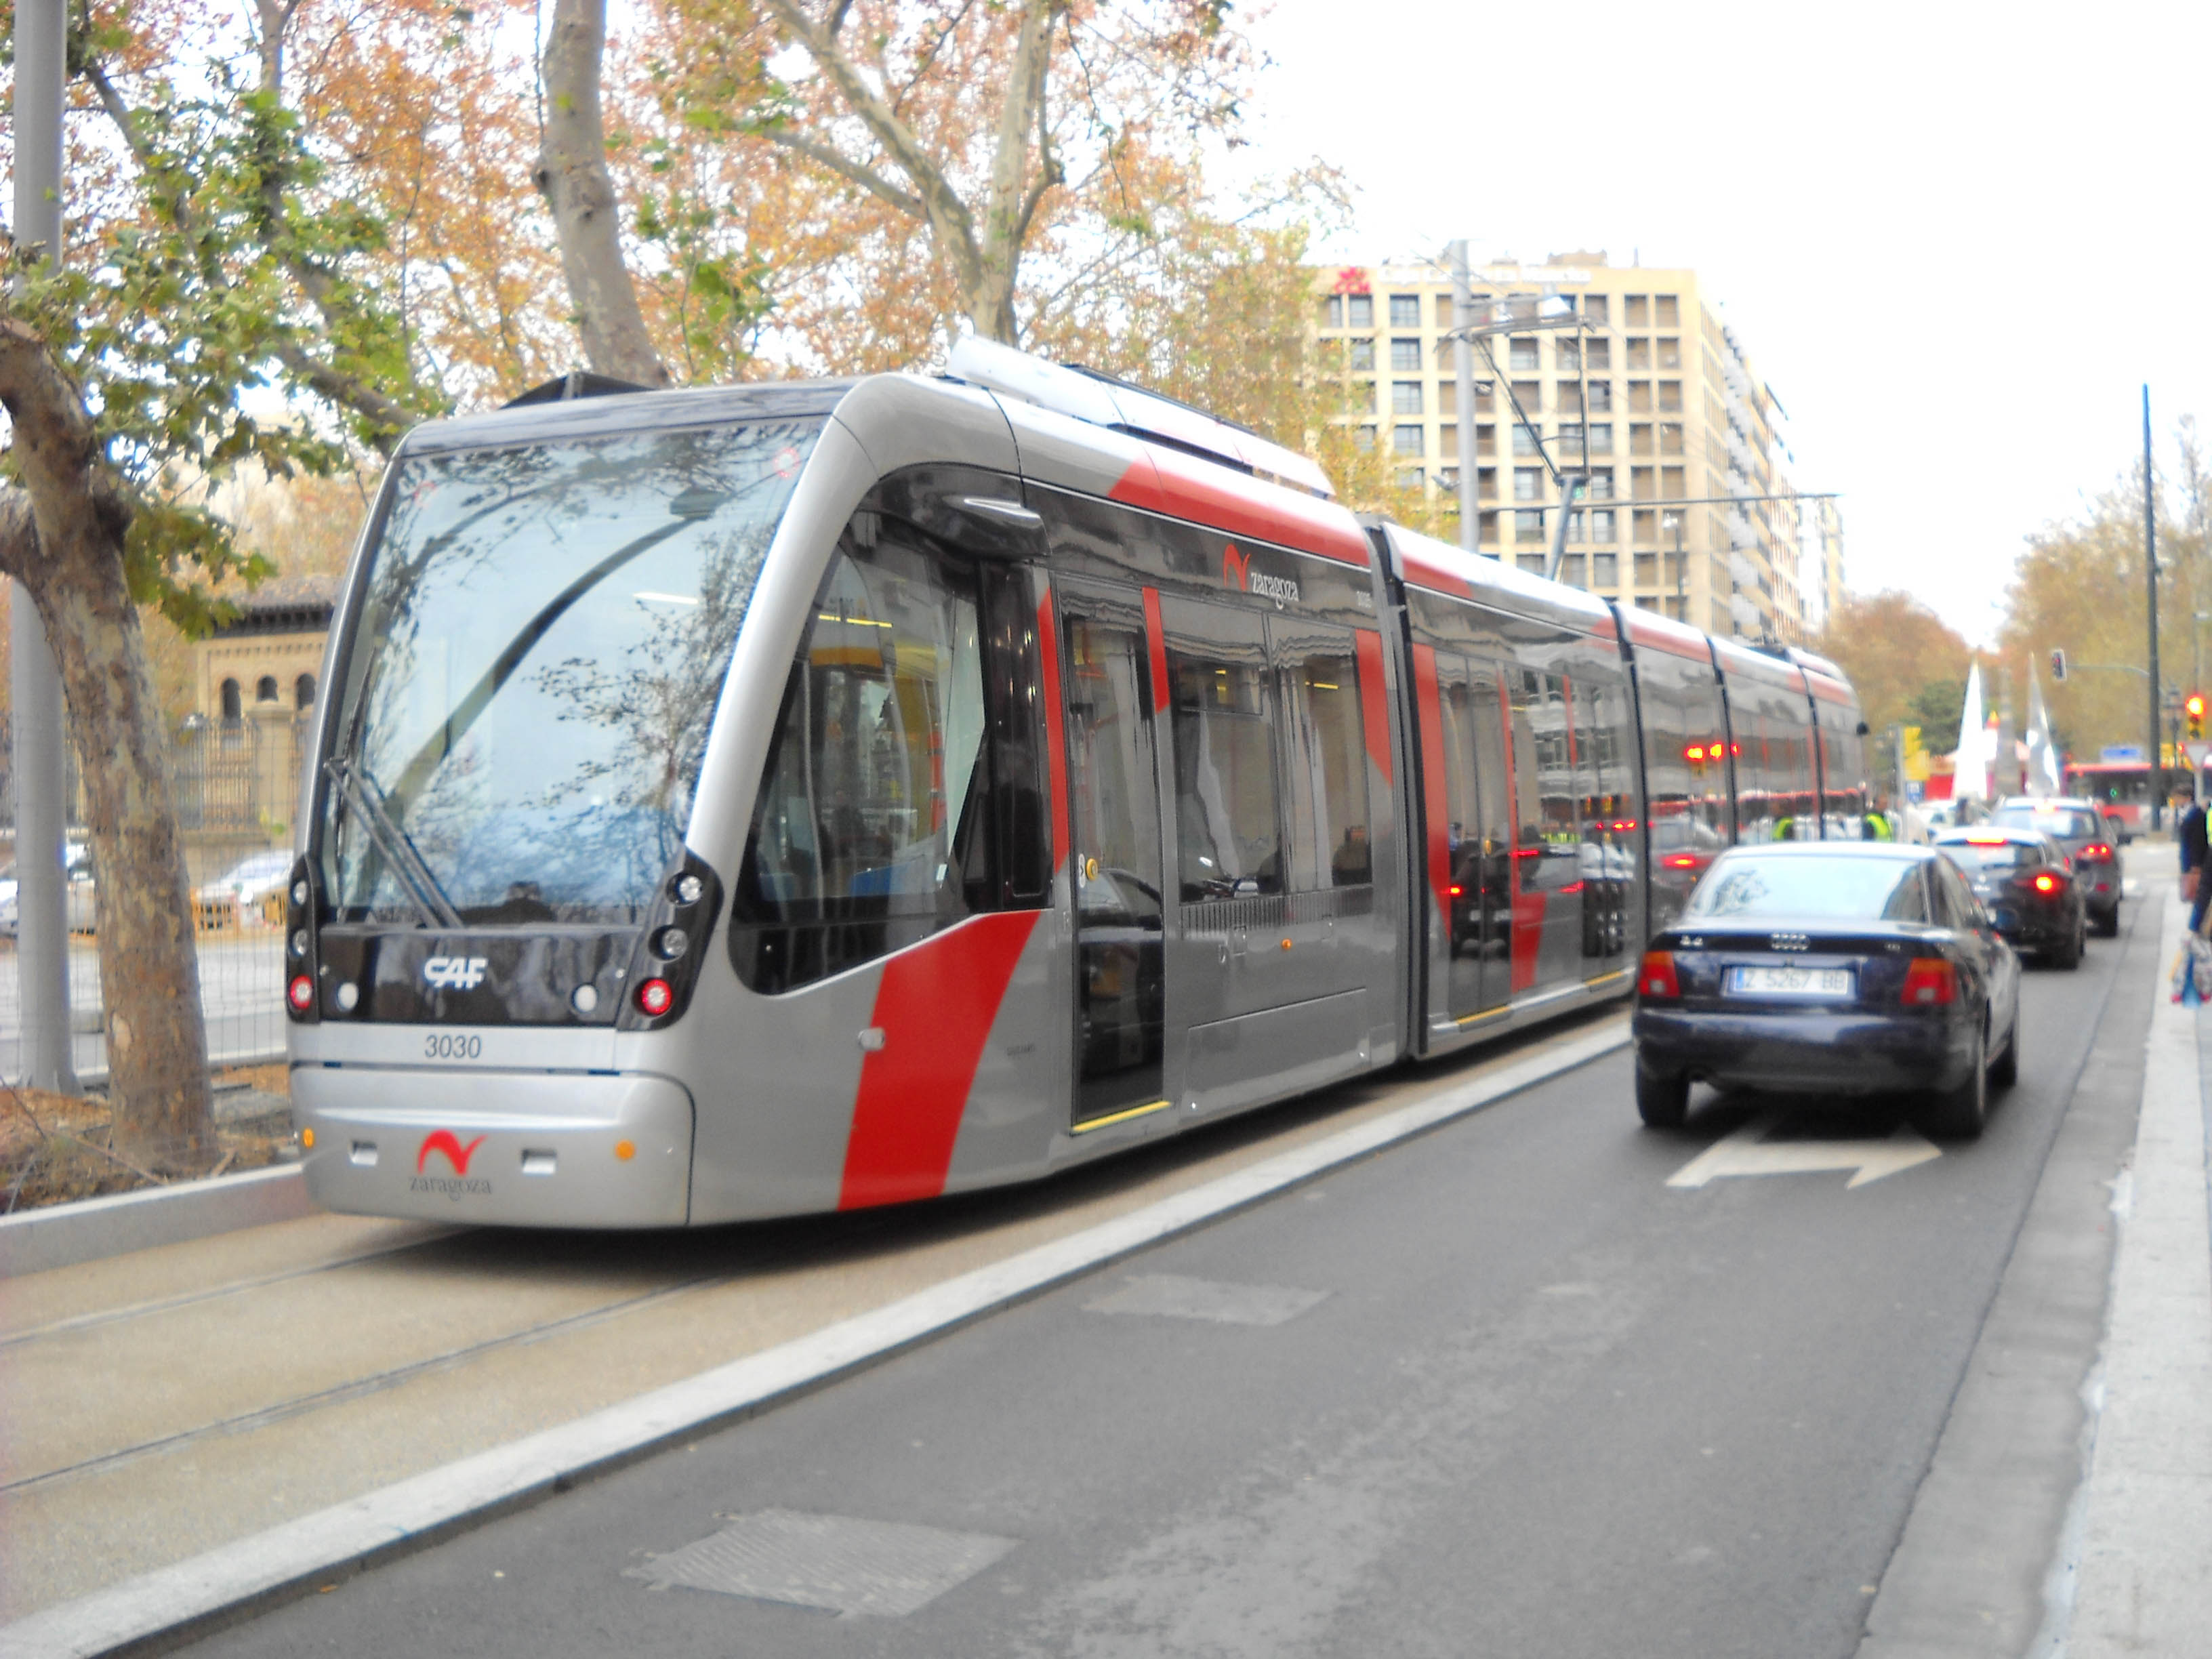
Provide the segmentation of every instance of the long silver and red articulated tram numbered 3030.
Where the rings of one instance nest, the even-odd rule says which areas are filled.
[[[1624,998],[1721,847],[1867,812],[1832,664],[980,341],[418,427],[321,684],[292,1110],[358,1214],[1035,1179]]]

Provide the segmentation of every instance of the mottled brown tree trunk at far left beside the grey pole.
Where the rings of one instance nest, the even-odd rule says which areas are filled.
[[[146,1168],[201,1170],[208,1044],[161,706],[124,580],[131,504],[77,387],[13,319],[0,319],[0,403],[22,469],[22,489],[0,491],[0,568],[38,606],[86,759],[115,1135]]]

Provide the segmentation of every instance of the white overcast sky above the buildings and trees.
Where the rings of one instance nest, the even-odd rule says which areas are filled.
[[[1690,265],[1843,491],[1845,577],[1995,630],[2022,538],[2212,414],[2212,9],[1276,0],[1248,166],[1325,254]]]

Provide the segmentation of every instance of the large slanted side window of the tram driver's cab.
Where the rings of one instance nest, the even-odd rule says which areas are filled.
[[[792,664],[730,949],[785,991],[993,907],[975,577],[858,513]]]

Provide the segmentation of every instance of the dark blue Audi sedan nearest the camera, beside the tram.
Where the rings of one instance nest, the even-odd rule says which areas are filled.
[[[1637,973],[1637,1110],[1688,1113],[1690,1084],[1924,1097],[1973,1137],[2020,1066],[2020,958],[1929,847],[1732,847],[1652,936]]]

